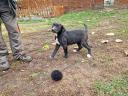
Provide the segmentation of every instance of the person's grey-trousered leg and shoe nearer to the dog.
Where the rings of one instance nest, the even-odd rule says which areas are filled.
[[[10,46],[11,46],[14,58],[16,60],[21,60],[25,62],[32,61],[32,58],[30,56],[26,56],[23,53],[21,39],[20,39],[21,33],[19,30],[16,18],[11,16],[9,12],[2,13],[1,18],[8,31]]]

